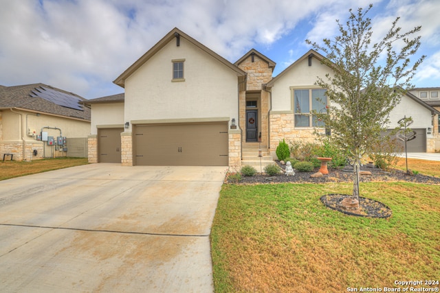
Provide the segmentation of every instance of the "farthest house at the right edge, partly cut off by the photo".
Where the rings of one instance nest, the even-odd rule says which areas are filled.
[[[440,87],[437,88],[415,88],[410,91],[412,95],[418,97],[426,104],[440,111]],[[432,116],[432,132],[435,139],[435,150],[440,151],[440,115]]]

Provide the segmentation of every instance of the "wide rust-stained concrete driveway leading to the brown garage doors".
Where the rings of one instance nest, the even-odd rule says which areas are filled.
[[[226,170],[102,163],[0,181],[0,291],[212,292]]]

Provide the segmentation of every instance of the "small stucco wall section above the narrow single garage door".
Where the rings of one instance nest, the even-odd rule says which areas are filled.
[[[124,103],[91,105],[91,134],[98,134],[97,126],[120,127],[122,124],[124,124]]]

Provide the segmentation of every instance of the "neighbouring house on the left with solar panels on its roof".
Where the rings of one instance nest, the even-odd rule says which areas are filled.
[[[0,86],[1,160],[87,157],[90,108],[83,101],[46,84]]]

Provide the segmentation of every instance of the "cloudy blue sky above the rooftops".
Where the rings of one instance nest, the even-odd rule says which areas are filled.
[[[416,57],[427,58],[412,83],[440,86],[438,0],[0,0],[0,84],[122,93],[113,80],[173,27],[230,62],[254,48],[276,62],[275,76],[311,48],[306,38],[336,36],[336,19],[369,3],[373,40],[397,16],[404,31],[422,26]]]

